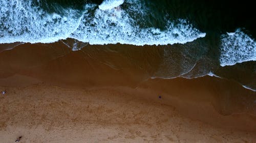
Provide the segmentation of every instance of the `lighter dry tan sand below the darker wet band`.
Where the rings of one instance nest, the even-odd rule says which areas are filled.
[[[187,118],[162,103],[164,97],[154,101],[140,89],[78,90],[38,83],[5,90],[0,97],[3,143],[18,136],[20,142],[54,143],[256,141],[255,131],[223,129]]]

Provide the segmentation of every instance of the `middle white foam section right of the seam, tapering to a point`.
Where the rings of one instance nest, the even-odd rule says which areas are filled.
[[[165,31],[154,27],[140,28],[133,25],[134,20],[125,11],[116,9],[97,9],[93,19],[87,15],[82,19],[70,37],[90,44],[167,45],[191,42],[205,36],[185,20],[180,20],[178,25],[169,22]]]

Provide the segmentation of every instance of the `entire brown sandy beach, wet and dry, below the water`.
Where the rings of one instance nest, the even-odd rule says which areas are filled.
[[[2,51],[0,140],[256,142],[255,92],[209,76],[150,79],[161,60],[146,57],[159,49],[117,48]]]

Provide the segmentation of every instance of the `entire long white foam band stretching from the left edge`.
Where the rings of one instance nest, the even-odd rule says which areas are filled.
[[[62,8],[56,4],[61,12],[48,13],[32,0],[2,0],[0,43],[52,43],[74,38],[84,43],[101,45],[167,45],[186,43],[205,36],[205,33],[184,19],[179,19],[178,24],[169,20],[165,30],[140,27],[127,12],[132,10],[134,14],[146,13],[146,9],[141,9],[139,0],[125,1],[126,5],[130,5],[126,10],[102,8],[103,4],[113,4],[115,7],[121,2],[104,1],[100,9],[97,5],[86,4],[83,11]]]

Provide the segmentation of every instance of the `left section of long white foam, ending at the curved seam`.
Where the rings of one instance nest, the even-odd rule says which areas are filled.
[[[0,3],[0,43],[51,43],[66,39],[77,27],[77,11],[47,13],[32,1]]]

